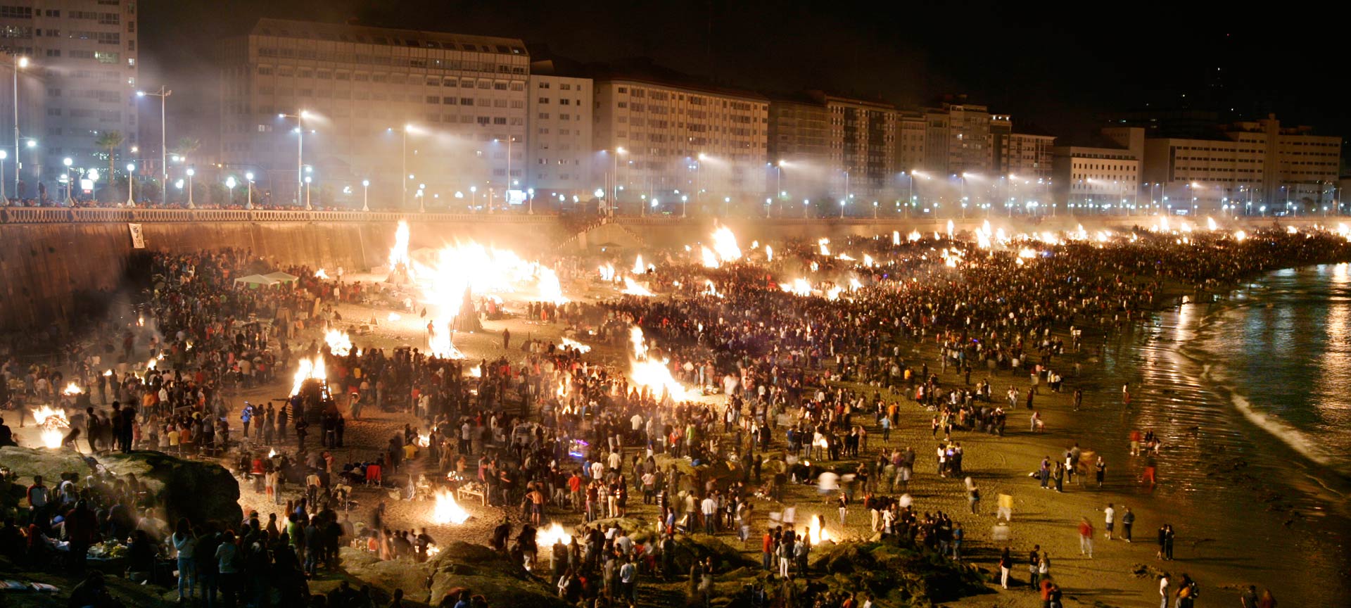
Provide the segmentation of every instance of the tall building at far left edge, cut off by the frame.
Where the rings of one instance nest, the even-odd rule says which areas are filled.
[[[136,1],[0,0],[4,66],[19,69],[20,195],[36,197],[38,182],[59,200],[63,158],[73,168],[118,172],[136,145]],[[8,70],[7,70],[8,72]],[[9,73],[4,80],[12,82]],[[5,193],[15,196],[14,95],[0,95],[0,150],[5,150]],[[100,134],[119,131],[120,146],[100,149]],[[30,143],[34,142],[34,143]],[[100,176],[107,182],[107,176]]]

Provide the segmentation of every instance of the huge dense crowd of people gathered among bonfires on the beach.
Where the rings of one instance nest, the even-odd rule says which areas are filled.
[[[979,490],[963,462],[962,434],[1002,436],[1008,415],[1020,407],[1031,411],[1031,430],[1042,430],[1036,396],[1065,390],[1065,377],[1078,372],[1075,355],[1096,347],[1085,339],[1121,331],[1170,289],[1213,289],[1277,265],[1347,255],[1340,238],[1256,238],[1260,247],[1220,235],[1194,235],[1193,246],[1178,247],[1171,238],[1140,232],[1129,245],[1044,245],[1034,257],[978,255],[970,243],[943,238],[861,239],[850,246],[867,254],[863,263],[821,255],[813,243],[790,243],[773,262],[674,262],[639,277],[673,297],[526,307],[530,319],[561,323],[588,343],[655,362],[684,392],[635,382],[626,365],[594,361],[576,340],[527,338],[511,350],[505,332],[503,350],[511,355],[477,363],[419,347],[335,353],[320,336],[308,345],[297,339],[339,320],[338,305],[359,303],[382,286],[289,268],[300,277],[295,285],[232,289],[232,278],[257,263],[246,251],[157,255],[155,286],[135,324],[100,327],[97,339],[72,350],[68,372],[5,362],[4,401],[20,411],[55,403],[73,412],[74,431],[66,439],[76,447],[82,432],[89,451],[234,454],[240,478],[276,504],[284,501],[286,485],[300,497],[288,504],[284,522],[250,517],[235,530],[180,523],[166,544],[163,522],[146,512],[154,505],[136,501],[134,490],[105,490],[105,481],[77,490],[63,482],[53,492],[61,500],[50,511],[38,492],[30,517],[35,523],[19,538],[27,539],[27,550],[34,550],[34,538],[42,540],[41,553],[47,540],[73,540],[70,522],[86,519],[88,535],[81,524],[74,527],[91,542],[100,534],[145,532],[155,553],[178,555],[180,573],[197,573],[204,593],[220,589],[227,607],[236,597],[257,605],[269,589],[303,597],[305,576],[332,567],[338,543],[354,542],[389,559],[427,559],[435,540],[426,530],[396,528],[384,503],[363,522],[350,522],[353,486],[407,488],[404,496],[416,499],[450,480],[480,488],[489,505],[519,513],[515,544],[508,542],[512,526],[504,523],[494,547],[547,576],[569,603],[608,607],[632,604],[639,577],[684,574],[673,566],[682,535],[735,535],[750,543],[757,501],[782,503],[788,486],[809,484],[838,508],[836,536],[850,531],[850,505],[862,504],[870,513],[869,532],[884,542],[961,561],[961,522],[925,512],[908,495],[923,462],[916,454],[925,449],[889,445],[901,409],[923,408],[932,416],[934,465],[924,465],[924,473],[965,484],[974,513]],[[789,277],[802,277],[811,295],[789,285]],[[939,369],[929,368],[929,355]],[[324,359],[326,390],[246,404],[242,424],[231,419],[236,390],[277,384],[301,357]],[[14,380],[22,388],[11,390]],[[74,389],[58,390],[66,382]],[[994,396],[996,384],[1008,385],[1006,400]],[[1078,405],[1082,395],[1074,400]],[[104,411],[109,401],[112,409]],[[405,413],[416,427],[407,426],[359,462],[338,462],[346,426],[367,407]],[[243,432],[235,434],[239,427]],[[297,442],[296,458],[263,454],[286,442],[288,432]],[[311,432],[320,435],[317,446],[307,443]],[[1052,463],[1047,457],[1039,469],[1042,485],[1055,478],[1062,489],[1063,477],[1078,472],[1078,459],[1074,454]],[[835,461],[858,463],[847,474],[823,466]],[[1098,476],[1104,467],[1100,458]],[[134,480],[123,485],[134,488]],[[630,493],[642,496],[643,507],[634,505]],[[646,513],[648,505],[654,513],[647,543],[603,522],[630,516],[631,509]],[[771,589],[780,605],[796,605],[808,600],[793,582],[812,576],[808,532],[821,535],[828,524],[812,516],[794,530],[802,522],[775,508],[762,538],[767,576],[761,592]],[[62,512],[65,530],[53,530],[51,515]],[[345,512],[340,520],[338,512]],[[553,547],[550,572],[538,559],[535,535],[553,516],[578,517],[582,526],[571,543]],[[158,536],[141,530],[145,519]],[[180,534],[193,542],[180,544]],[[170,544],[177,551],[166,551]],[[182,567],[189,546],[196,570]],[[222,551],[230,555],[220,558]],[[242,555],[238,562],[235,553]],[[1059,588],[1048,558],[1034,555],[1032,586],[1054,605]],[[1005,561],[1006,551],[1000,563],[1006,584]],[[689,573],[694,593],[707,599],[723,566],[696,563]],[[207,578],[212,582],[201,582]],[[190,593],[192,582],[192,576],[180,576],[181,593]],[[369,592],[340,596],[330,603],[370,601]],[[817,594],[811,601],[834,608],[869,600]]]

